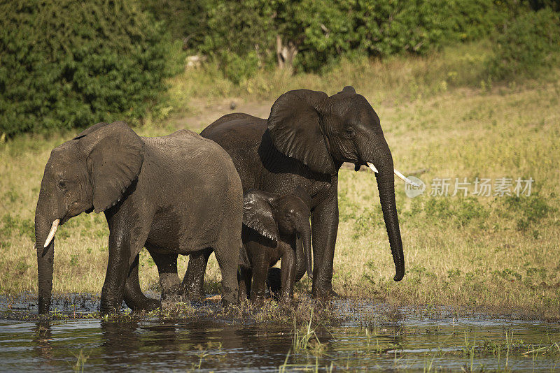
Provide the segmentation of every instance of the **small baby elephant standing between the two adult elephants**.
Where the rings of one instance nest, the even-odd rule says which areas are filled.
[[[262,300],[268,269],[280,258],[282,300],[293,298],[293,283],[305,270],[312,277],[309,214],[308,205],[293,194],[279,196],[255,190],[244,194],[240,300],[248,294],[253,301]]]

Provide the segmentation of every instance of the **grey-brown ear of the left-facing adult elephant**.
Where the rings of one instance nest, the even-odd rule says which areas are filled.
[[[115,205],[138,177],[144,141],[125,122],[98,123],[83,133],[77,138],[87,157],[93,207],[102,212]]]

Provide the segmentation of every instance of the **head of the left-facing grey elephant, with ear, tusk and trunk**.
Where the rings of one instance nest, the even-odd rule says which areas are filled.
[[[39,314],[50,307],[57,226],[118,203],[143,161],[144,142],[124,122],[95,124],[52,150],[35,210]]]

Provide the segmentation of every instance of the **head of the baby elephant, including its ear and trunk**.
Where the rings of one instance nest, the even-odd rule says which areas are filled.
[[[273,241],[283,237],[302,240],[303,258],[296,251],[296,262],[306,263],[307,276],[313,277],[311,268],[311,224],[309,207],[293,194],[278,196],[264,191],[247,191],[243,201],[243,224]]]

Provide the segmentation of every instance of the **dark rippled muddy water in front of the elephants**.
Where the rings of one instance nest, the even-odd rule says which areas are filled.
[[[284,363],[288,371],[316,366],[325,370],[331,365],[334,370],[358,371],[560,369],[556,323],[456,316],[444,310],[388,312],[384,305],[339,300],[333,312],[342,323],[318,327],[321,344],[293,353],[290,325],[196,316],[76,319],[97,307],[95,299],[80,299],[55,305],[69,319],[38,321],[32,299],[0,298],[0,370],[72,371],[76,363],[78,369],[83,363],[85,371],[106,372],[130,367],[150,372],[272,372]],[[496,346],[505,346],[506,334],[508,341],[513,339],[510,352],[503,348],[493,353]],[[538,348],[538,353],[524,354]]]

